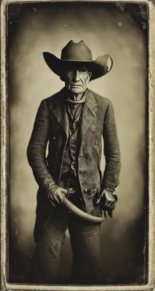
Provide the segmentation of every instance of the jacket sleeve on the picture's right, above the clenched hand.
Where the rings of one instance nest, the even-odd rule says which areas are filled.
[[[110,101],[103,126],[105,170],[102,182],[102,189],[109,185],[113,188],[119,185],[120,175],[120,147],[117,137],[117,129],[114,118],[114,109]]]

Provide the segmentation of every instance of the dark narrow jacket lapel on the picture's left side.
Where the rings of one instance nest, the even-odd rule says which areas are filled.
[[[55,102],[56,109],[53,110],[53,113],[57,119],[57,121],[61,124],[62,128],[66,132],[68,137],[69,135],[69,121],[68,121],[68,114],[65,104],[65,92],[62,91],[62,95],[58,98]]]

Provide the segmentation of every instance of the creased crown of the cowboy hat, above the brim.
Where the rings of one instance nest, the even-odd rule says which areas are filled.
[[[73,42],[71,40],[61,51],[61,60],[70,61],[92,61],[91,50],[87,47],[83,40]]]

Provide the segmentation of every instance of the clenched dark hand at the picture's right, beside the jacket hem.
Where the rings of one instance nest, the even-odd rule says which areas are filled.
[[[96,204],[98,203],[103,204],[103,206],[105,206],[108,209],[114,210],[116,200],[114,198],[113,192],[107,189],[103,189],[100,194],[100,197],[97,199]]]

